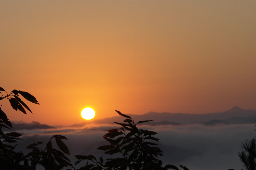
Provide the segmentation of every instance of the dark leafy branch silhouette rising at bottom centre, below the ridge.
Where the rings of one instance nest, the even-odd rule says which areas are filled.
[[[153,147],[154,145],[158,145],[155,142],[158,142],[159,139],[153,137],[156,135],[156,132],[138,129],[136,127],[138,123],[152,120],[139,121],[136,124],[130,116],[124,115],[117,110],[116,112],[128,119],[125,119],[124,123],[114,122],[122,127],[120,130],[108,130],[108,133],[105,134],[103,138],[110,144],[100,146],[98,149],[106,151],[104,153],[109,155],[119,153],[122,157],[106,159],[106,162],[103,163],[102,157],[100,157],[100,161],[97,161],[92,155],[76,155],[76,158],[79,159],[77,164],[80,163],[81,160],[90,160],[93,163],[89,165],[87,163],[86,166],[81,167],[79,170],[179,170],[179,168],[174,165],[166,165],[163,167],[162,161],[157,159],[158,156],[162,156],[163,151],[158,147]],[[180,167],[184,170],[188,170],[185,166]]]

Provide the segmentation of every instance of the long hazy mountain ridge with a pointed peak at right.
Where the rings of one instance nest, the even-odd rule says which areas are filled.
[[[124,113],[125,114],[125,113]],[[127,114],[129,115],[129,114]],[[148,125],[180,125],[180,124],[193,124],[199,123],[203,125],[216,125],[216,124],[244,124],[244,123],[256,123],[256,111],[244,110],[240,107],[233,107],[225,112],[209,113],[204,115],[199,114],[183,114],[183,113],[157,113],[148,112],[144,115],[129,115],[135,122],[143,120],[154,120],[155,122],[148,122]],[[113,122],[122,122],[124,117],[114,116],[111,118],[105,118],[92,121],[96,124],[113,124]],[[72,127],[82,127],[88,122],[80,124],[74,124]]]

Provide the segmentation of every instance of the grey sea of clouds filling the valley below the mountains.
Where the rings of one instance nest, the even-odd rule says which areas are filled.
[[[22,139],[18,141],[17,151],[25,149],[29,144],[49,141],[52,135],[63,135],[68,140],[63,140],[70,151],[70,160],[76,161],[75,155],[94,155],[96,158],[109,156],[97,150],[99,146],[108,142],[102,137],[106,130],[120,128],[115,124],[91,124],[81,128],[59,127],[57,129],[18,130]],[[164,151],[159,159],[163,164],[175,166],[183,165],[190,170],[228,170],[243,168],[238,157],[241,144],[245,140],[256,136],[254,124],[216,125],[204,126],[191,125],[165,125],[165,126],[140,126],[139,129],[156,131],[159,138],[159,148]],[[42,144],[43,145],[43,144]],[[56,144],[55,147],[57,148]],[[114,158],[115,155],[112,155]],[[85,163],[85,162],[84,162]],[[80,163],[83,164],[82,162]]]

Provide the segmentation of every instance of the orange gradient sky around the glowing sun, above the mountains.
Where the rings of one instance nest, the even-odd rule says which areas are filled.
[[[0,1],[0,87],[71,125],[124,114],[256,109],[255,1]]]

